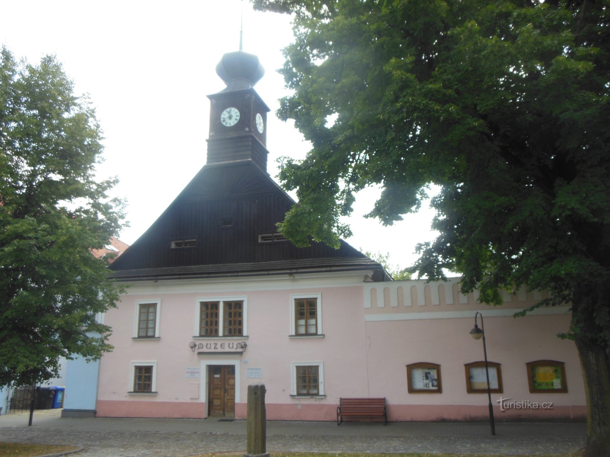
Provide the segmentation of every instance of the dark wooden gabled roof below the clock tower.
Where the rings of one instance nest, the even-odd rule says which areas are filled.
[[[341,241],[299,248],[290,241],[260,243],[276,233],[295,202],[251,160],[206,165],[154,224],[110,266],[112,278],[204,277],[247,272],[375,270],[383,267]],[[221,219],[232,219],[231,227]],[[173,249],[172,241],[195,239],[194,247]]]

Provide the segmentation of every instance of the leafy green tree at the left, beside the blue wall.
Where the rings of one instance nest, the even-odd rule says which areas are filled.
[[[112,347],[95,314],[114,306],[106,261],[123,218],[96,182],[101,129],[55,57],[40,65],[0,52],[0,385],[58,375],[59,358]],[[90,336],[96,332],[99,336]]]

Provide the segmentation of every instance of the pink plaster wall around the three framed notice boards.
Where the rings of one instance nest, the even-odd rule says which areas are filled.
[[[485,318],[488,360],[501,364],[503,379],[504,392],[492,394],[493,405],[498,405],[495,401],[500,397],[512,397],[518,402],[554,403],[553,410],[498,411],[498,419],[517,416],[569,418],[586,414],[584,384],[575,345],[556,337],[567,330],[569,322],[569,316],[558,314],[517,319],[511,316]],[[464,406],[480,406],[482,416],[486,416],[487,395],[466,391],[464,364],[484,360],[483,341],[470,336],[472,327],[472,318],[367,322],[368,395],[386,397],[391,405],[389,416],[392,420],[439,420],[442,417],[472,420],[481,416],[477,409]],[[525,364],[544,359],[565,363],[567,393],[529,393]],[[440,365],[441,394],[407,392],[406,365],[417,362]],[[448,408],[451,405],[456,408]]]

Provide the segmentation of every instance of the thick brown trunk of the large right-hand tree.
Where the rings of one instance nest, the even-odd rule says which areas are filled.
[[[583,457],[610,457],[610,359],[597,344],[575,338],[587,397],[587,447]]]

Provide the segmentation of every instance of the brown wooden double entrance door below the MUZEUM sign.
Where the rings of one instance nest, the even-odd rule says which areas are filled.
[[[207,414],[212,417],[235,417],[235,366],[210,365],[207,372]]]

